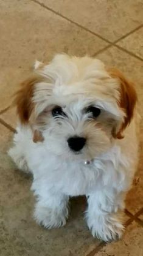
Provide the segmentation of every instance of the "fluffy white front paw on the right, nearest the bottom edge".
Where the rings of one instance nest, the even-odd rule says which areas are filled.
[[[124,231],[117,214],[96,215],[94,219],[88,217],[88,227],[94,237],[105,242],[120,239]]]

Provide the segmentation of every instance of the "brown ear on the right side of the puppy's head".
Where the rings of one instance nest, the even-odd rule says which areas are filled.
[[[119,107],[125,111],[125,118],[120,130],[116,133],[115,130],[113,131],[114,138],[124,138],[122,132],[125,128],[130,124],[131,119],[133,118],[134,107],[137,102],[137,94],[134,86],[131,82],[129,82],[122,73],[117,69],[108,69],[111,77],[117,78],[120,83],[120,100],[118,102]]]

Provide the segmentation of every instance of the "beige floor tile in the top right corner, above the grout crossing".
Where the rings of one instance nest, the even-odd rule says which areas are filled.
[[[113,42],[142,23],[142,1],[38,0]]]

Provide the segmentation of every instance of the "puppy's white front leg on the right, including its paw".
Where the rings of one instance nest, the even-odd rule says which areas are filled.
[[[114,189],[103,189],[88,195],[86,219],[93,236],[104,241],[120,238],[122,225],[124,194]]]

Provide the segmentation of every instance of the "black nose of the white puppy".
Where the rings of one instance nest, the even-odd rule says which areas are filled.
[[[85,146],[86,138],[83,137],[71,137],[68,139],[69,148],[73,151],[80,151]]]

